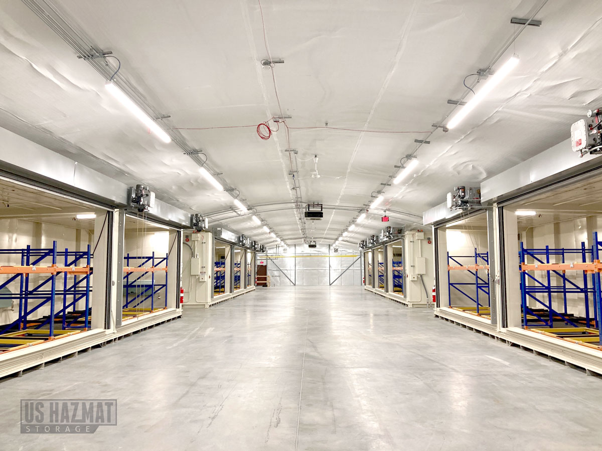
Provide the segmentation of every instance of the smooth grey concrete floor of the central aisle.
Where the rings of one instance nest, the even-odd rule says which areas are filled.
[[[0,383],[2,450],[599,450],[602,380],[359,287],[258,289]],[[19,399],[117,399],[20,435]]]

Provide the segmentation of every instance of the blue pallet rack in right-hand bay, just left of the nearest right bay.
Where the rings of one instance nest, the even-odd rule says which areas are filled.
[[[467,262],[467,259],[470,261]],[[489,253],[478,252],[477,248],[474,248],[473,255],[456,255],[452,256],[447,253],[447,265],[453,266],[452,263],[456,263],[458,266],[486,266],[489,265]],[[470,263],[467,264],[467,263]],[[486,278],[479,275],[479,271],[486,271]],[[470,299],[476,304],[476,311],[479,314],[480,307],[491,307],[491,301],[489,300],[489,270],[488,269],[467,269],[468,274],[471,274],[474,281],[470,282],[452,282],[452,271],[447,271],[447,294],[449,299],[449,305],[452,306],[452,289],[461,293],[465,298]],[[474,296],[471,296],[466,292],[468,287],[474,287]],[[487,305],[482,303],[482,296],[487,299]]]

